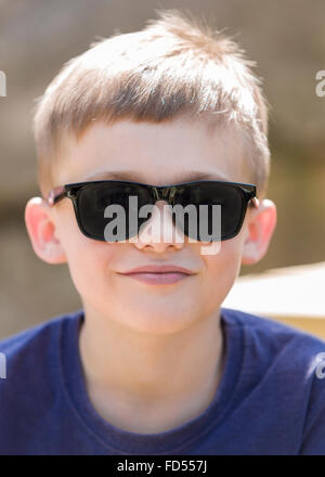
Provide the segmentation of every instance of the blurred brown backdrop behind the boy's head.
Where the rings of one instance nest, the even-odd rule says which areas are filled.
[[[31,133],[34,101],[63,63],[96,37],[141,29],[155,9],[204,15],[257,62],[270,103],[269,198],[278,221],[268,255],[240,274],[324,261],[324,0],[0,0],[0,338],[81,307],[66,265],[42,262],[24,222],[39,195]]]

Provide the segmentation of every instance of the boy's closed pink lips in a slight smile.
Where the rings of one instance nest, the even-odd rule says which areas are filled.
[[[168,285],[194,276],[196,272],[177,266],[146,266],[120,274],[148,285]]]

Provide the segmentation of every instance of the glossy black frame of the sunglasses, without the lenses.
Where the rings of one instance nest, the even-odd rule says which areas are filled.
[[[150,185],[142,182],[132,182],[132,181],[121,181],[121,180],[99,180],[99,181],[88,181],[88,182],[75,182],[69,183],[65,185],[60,185],[54,189],[52,189],[49,194],[47,202],[50,207],[57,204],[60,201],[62,201],[64,197],[68,197],[72,199],[74,204],[75,215],[77,218],[78,227],[83,233],[83,235],[88,236],[89,238],[105,242],[105,240],[101,240],[98,236],[94,237],[93,235],[89,234],[87,230],[84,230],[82,225],[82,221],[79,217],[79,210],[78,210],[78,194],[80,190],[83,186],[89,186],[90,184],[96,184],[96,183],[121,183],[121,184],[132,184],[132,185],[140,185],[144,186],[148,190],[148,194],[155,204],[156,201],[167,201],[168,204],[173,205],[172,199],[173,195],[177,192],[177,190],[183,185],[191,185],[191,184],[199,184],[199,183],[216,183],[216,184],[227,184],[232,185],[235,189],[237,189],[243,197],[242,202],[242,215],[240,215],[240,221],[235,230],[234,233],[230,234],[229,236],[222,238],[222,241],[233,238],[235,235],[237,235],[242,229],[244,218],[247,211],[248,205],[251,205],[253,207],[258,207],[258,198],[256,195],[256,185],[250,183],[240,183],[240,182],[225,182],[225,181],[192,181],[192,182],[181,182],[178,184],[172,185]]]

